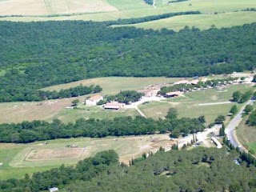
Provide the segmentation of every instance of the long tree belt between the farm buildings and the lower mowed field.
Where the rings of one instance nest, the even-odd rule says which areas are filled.
[[[113,120],[78,119],[75,123],[64,124],[58,119],[53,122],[33,121],[0,125],[0,142],[28,143],[55,138],[103,138],[166,133],[171,137],[186,136],[205,129],[201,118],[180,118],[154,120],[137,116],[114,118]]]

